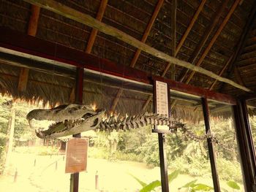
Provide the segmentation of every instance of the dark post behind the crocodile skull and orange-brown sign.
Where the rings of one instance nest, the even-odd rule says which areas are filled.
[[[76,70],[75,102],[83,103],[83,68]],[[74,134],[73,137],[81,137],[81,134]],[[78,192],[79,172],[70,175],[70,192]]]

